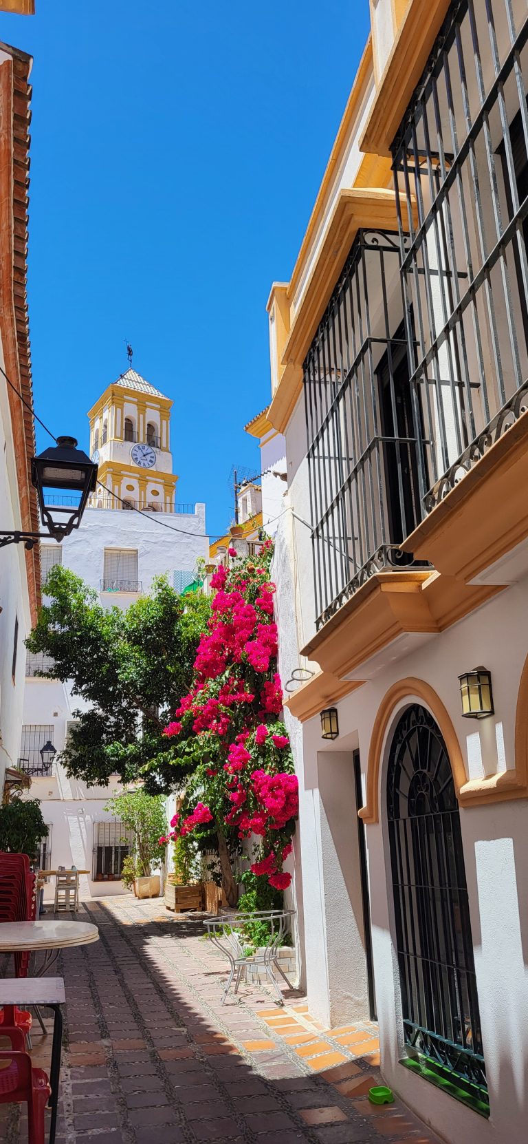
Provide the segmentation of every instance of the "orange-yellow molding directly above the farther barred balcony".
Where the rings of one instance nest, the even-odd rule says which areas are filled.
[[[393,190],[342,188],[328,223],[306,289],[295,313],[282,352],[283,373],[267,411],[272,426],[283,432],[301,394],[303,362],[358,230],[398,231]]]

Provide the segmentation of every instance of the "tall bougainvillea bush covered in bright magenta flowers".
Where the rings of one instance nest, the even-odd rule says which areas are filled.
[[[219,566],[211,579],[211,615],[191,690],[165,733],[174,765],[187,769],[190,756],[194,762],[168,839],[192,833],[200,844],[214,833],[224,892],[235,905],[231,859],[243,840],[253,840],[251,871],[258,880],[275,890],[290,884],[283,864],[291,852],[298,794],[280,718],[272,542],[265,541],[253,559],[239,558],[234,549],[229,555],[230,566]]]

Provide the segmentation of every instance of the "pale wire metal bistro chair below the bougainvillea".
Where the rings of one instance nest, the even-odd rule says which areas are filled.
[[[291,983],[279,964],[279,950],[288,930],[289,919],[294,914],[294,909],[259,909],[255,914],[226,913],[215,917],[214,921],[206,921],[208,936],[214,945],[225,954],[230,963],[230,974],[225,983],[222,1004],[225,1003],[233,977],[237,975],[234,982],[234,992],[237,993],[242,971],[258,967],[265,970],[278,1003],[285,1003],[273,970],[277,969],[288,988],[291,988]],[[270,936],[266,945],[261,950],[255,953],[245,953],[245,946],[248,944],[245,938],[245,928],[251,922],[269,922]]]

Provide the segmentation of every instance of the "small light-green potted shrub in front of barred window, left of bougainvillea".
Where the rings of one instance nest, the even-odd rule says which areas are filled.
[[[163,796],[145,794],[141,788],[126,791],[111,799],[105,810],[131,832],[134,867],[127,864],[125,884],[134,881],[138,898],[157,898],[161,880],[152,867],[160,861],[160,835],[167,829]]]

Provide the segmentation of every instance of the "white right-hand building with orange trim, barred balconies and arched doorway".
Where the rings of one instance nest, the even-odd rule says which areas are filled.
[[[386,1082],[440,1138],[517,1144],[528,6],[371,14],[291,280],[269,302],[299,960],[325,1026],[377,1017]]]

